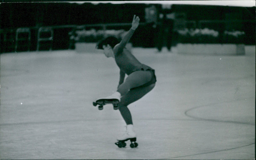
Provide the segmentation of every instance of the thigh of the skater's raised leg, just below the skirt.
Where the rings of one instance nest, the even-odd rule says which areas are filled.
[[[128,83],[130,88],[135,88],[142,86],[143,84],[149,82],[152,79],[152,74],[150,71],[136,71],[132,72],[126,79],[124,83]]]

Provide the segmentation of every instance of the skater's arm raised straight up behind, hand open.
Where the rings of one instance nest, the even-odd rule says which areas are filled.
[[[124,35],[124,38],[121,40],[119,44],[116,45],[114,50],[116,50],[115,53],[120,53],[123,51],[126,44],[129,42],[130,38],[132,37],[132,34],[134,33],[135,29],[139,26],[140,18],[136,15],[133,16],[132,20],[132,27],[131,29]]]

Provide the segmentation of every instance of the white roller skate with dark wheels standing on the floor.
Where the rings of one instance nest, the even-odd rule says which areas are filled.
[[[133,125],[127,125],[126,126],[126,132],[123,136],[117,138],[117,141],[115,144],[119,147],[125,147],[126,143],[125,141],[131,141],[130,147],[138,147],[138,143],[136,143],[136,133],[133,131]]]

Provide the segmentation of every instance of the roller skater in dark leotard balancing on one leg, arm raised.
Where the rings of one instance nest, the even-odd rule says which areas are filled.
[[[126,123],[126,133],[117,138],[115,144],[121,148],[125,147],[125,141],[131,141],[131,148],[137,147],[136,133],[133,130],[132,116],[127,106],[151,91],[156,84],[155,70],[147,65],[141,64],[132,53],[125,48],[129,42],[135,29],[139,26],[140,18],[133,16],[132,27],[124,35],[121,42],[116,37],[107,37],[99,41],[96,45],[97,49],[104,50],[106,57],[115,58],[117,66],[120,68],[120,79],[115,93],[108,97],[100,99],[115,99],[119,101],[118,109]],[[125,74],[127,78],[124,81]]]

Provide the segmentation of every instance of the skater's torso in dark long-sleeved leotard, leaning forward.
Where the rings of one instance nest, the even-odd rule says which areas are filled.
[[[115,55],[115,60],[120,70],[125,72],[127,75],[139,70],[153,70],[149,66],[141,64],[126,48],[124,48],[122,53]]]

